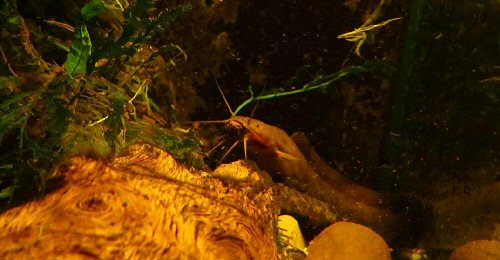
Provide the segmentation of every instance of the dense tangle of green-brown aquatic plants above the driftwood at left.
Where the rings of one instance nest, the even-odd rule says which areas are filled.
[[[123,8],[90,1],[81,9],[82,22],[74,29],[62,66],[48,64],[38,54],[15,2],[0,10],[8,17],[2,19],[2,27],[14,34],[0,46],[5,61],[0,71],[0,200],[22,201],[40,194],[52,168],[71,156],[106,158],[134,142],[149,142],[188,164],[201,164],[194,134],[152,120],[161,109],[149,97],[148,82],[134,78],[160,56],[170,66],[186,58],[176,45],[152,48],[148,43],[191,6],[155,15],[154,5],[155,1],[138,0]],[[104,38],[92,34],[92,19],[111,11],[123,15],[124,23]],[[27,47],[9,48],[21,44]],[[149,51],[144,54],[142,49]],[[17,62],[7,62],[5,57],[16,55],[21,57]],[[28,60],[29,68],[24,66]]]

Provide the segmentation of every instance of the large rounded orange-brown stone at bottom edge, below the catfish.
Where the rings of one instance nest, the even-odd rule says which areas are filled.
[[[350,222],[337,222],[324,229],[309,245],[308,260],[391,259],[385,241],[371,229]]]

